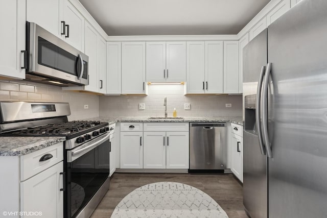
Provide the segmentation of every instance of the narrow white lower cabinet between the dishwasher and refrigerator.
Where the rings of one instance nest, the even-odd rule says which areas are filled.
[[[243,137],[242,126],[231,124],[231,172],[243,182]]]

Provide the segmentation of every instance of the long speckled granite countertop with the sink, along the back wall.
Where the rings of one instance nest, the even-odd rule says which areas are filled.
[[[131,122],[131,123],[137,123],[137,122],[166,122],[166,123],[178,123],[178,122],[230,122],[233,124],[238,124],[243,126],[243,121],[241,116],[213,116],[213,117],[182,117],[182,119],[176,119],[176,118],[149,118],[148,116],[121,116],[121,117],[94,117],[90,118],[89,120],[100,120],[101,122],[108,122],[110,124],[114,124],[116,122]]]

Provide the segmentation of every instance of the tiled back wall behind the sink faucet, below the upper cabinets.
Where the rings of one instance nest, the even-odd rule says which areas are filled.
[[[164,116],[167,96],[168,116],[242,116],[242,95],[184,95],[183,85],[149,85],[147,96],[100,96],[100,116]],[[146,110],[138,110],[145,103]],[[191,110],[184,110],[191,103]],[[225,104],[231,103],[231,108]]]

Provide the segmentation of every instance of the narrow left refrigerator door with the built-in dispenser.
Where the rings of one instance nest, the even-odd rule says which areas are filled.
[[[243,49],[243,196],[252,218],[267,218],[267,157],[262,155],[256,127],[256,93],[262,66],[267,65],[267,32]],[[259,84],[260,85],[260,84]]]

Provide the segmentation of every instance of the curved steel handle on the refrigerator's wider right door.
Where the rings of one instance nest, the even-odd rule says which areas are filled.
[[[269,141],[269,135],[268,135],[268,82],[269,82],[269,76],[271,72],[271,63],[267,64],[267,70],[263,82],[263,91],[262,91],[262,102],[261,102],[261,111],[262,111],[262,130],[264,133],[264,141],[266,144],[266,151],[267,151],[267,157],[272,158],[272,152],[271,152],[271,145]]]

